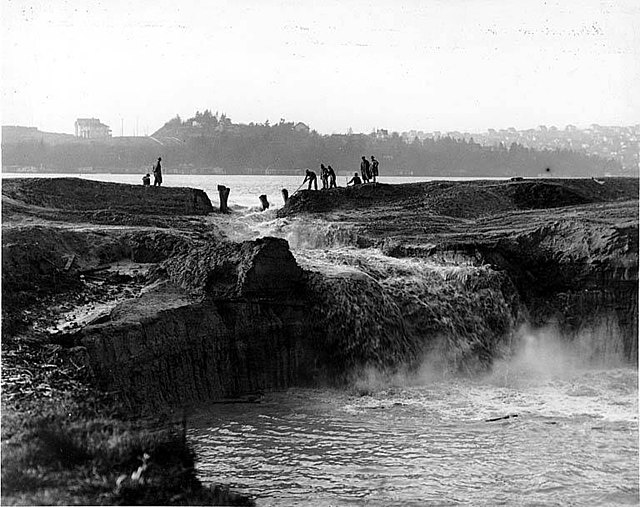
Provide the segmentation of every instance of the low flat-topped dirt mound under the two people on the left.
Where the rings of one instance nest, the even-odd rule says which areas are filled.
[[[70,211],[138,215],[205,215],[213,211],[202,190],[144,187],[80,178],[16,178],[2,182],[2,195],[33,206]]]

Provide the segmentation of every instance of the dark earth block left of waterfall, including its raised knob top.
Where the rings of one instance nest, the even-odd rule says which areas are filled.
[[[79,337],[104,389],[132,405],[175,405],[310,378],[302,270],[284,240],[201,245],[157,276]]]

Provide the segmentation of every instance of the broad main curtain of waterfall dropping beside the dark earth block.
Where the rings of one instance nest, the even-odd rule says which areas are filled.
[[[488,266],[396,259],[373,249],[296,256],[336,371],[418,366],[428,356],[473,372],[511,347],[519,299],[510,280]]]

